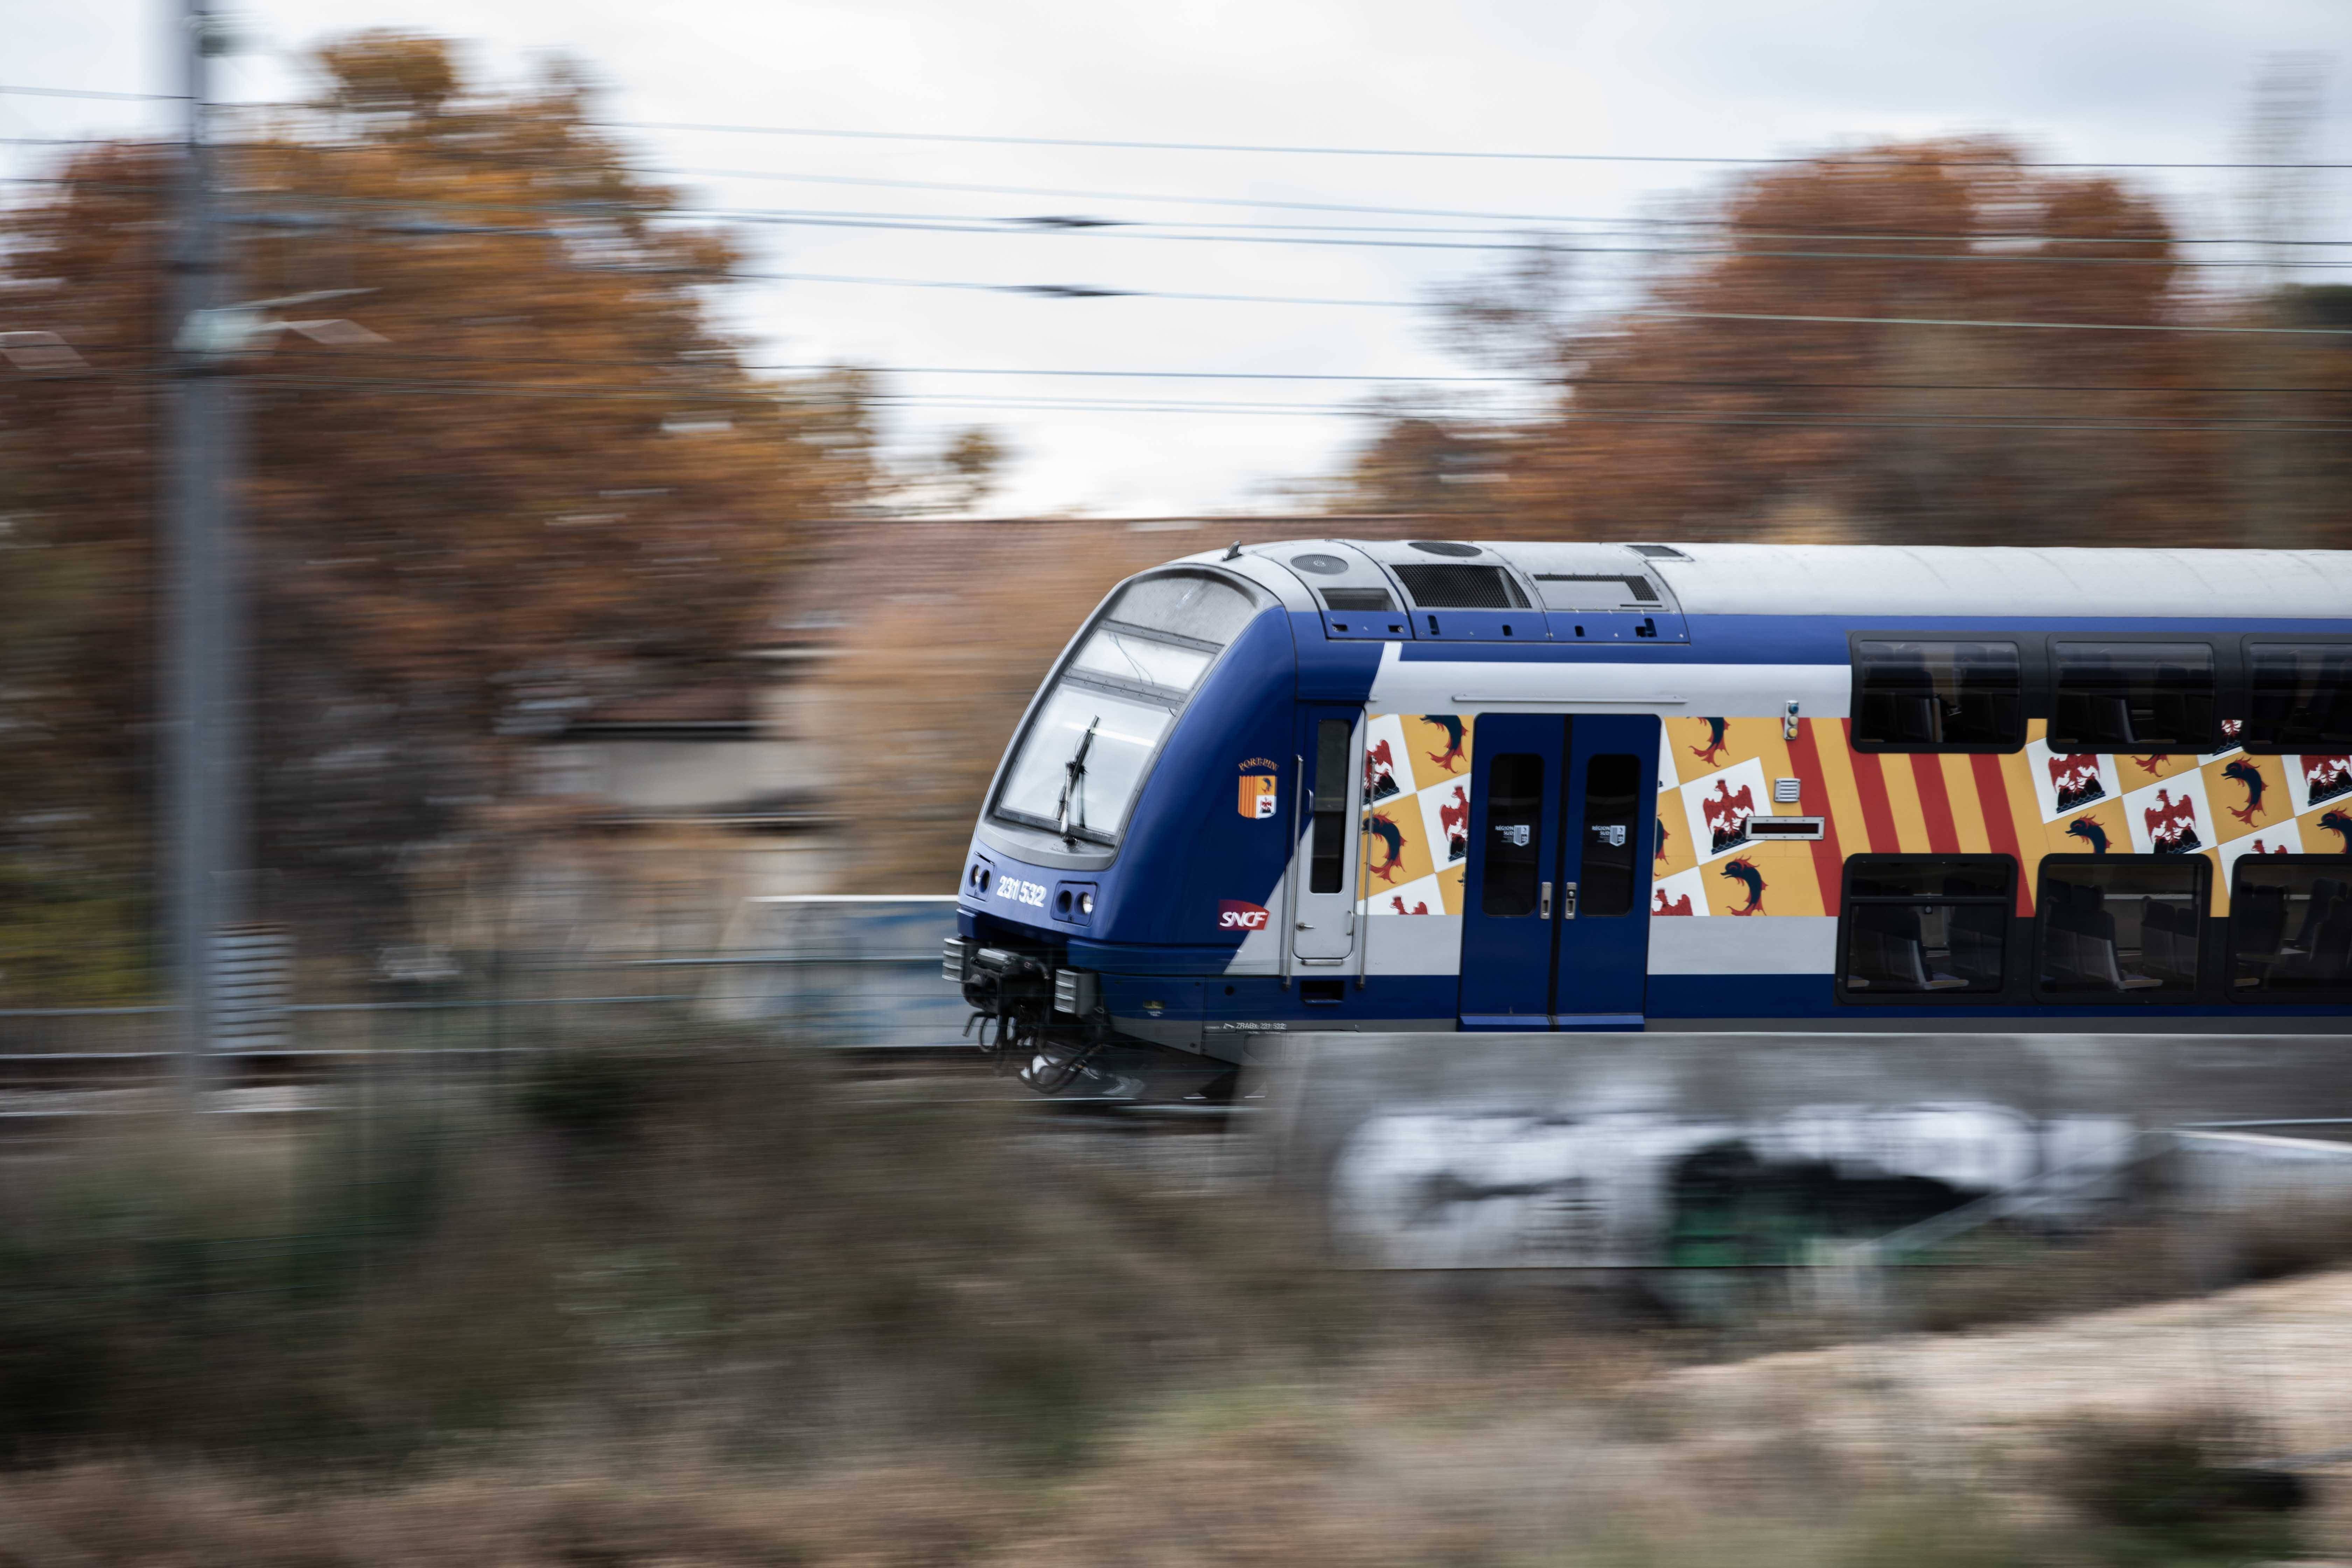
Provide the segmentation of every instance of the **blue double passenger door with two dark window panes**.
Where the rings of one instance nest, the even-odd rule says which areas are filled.
[[[1658,806],[1651,715],[1482,715],[1465,1030],[1639,1030]]]

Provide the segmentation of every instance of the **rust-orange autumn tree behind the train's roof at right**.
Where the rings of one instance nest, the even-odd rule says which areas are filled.
[[[1672,233],[1663,244],[1679,254],[1658,261],[1630,310],[1564,336],[1531,329],[1557,395],[1501,435],[1465,433],[1501,444],[1484,527],[2237,543],[2244,421],[2352,409],[2345,355],[2326,339],[2253,353],[2227,334],[2161,331],[2272,313],[2194,282],[2147,195],[2034,169],[1999,141],[1882,146],[1740,176]],[[1505,308],[1468,296],[1449,310],[1489,331],[1508,324],[1519,280],[1505,284]],[[2218,390],[2279,376],[2338,395],[2260,404]],[[1402,435],[1395,425],[1367,449],[1357,505],[1383,501],[1378,465]],[[2291,440],[2314,451],[2328,437]],[[2272,534],[2319,543],[2336,527],[2303,505]]]

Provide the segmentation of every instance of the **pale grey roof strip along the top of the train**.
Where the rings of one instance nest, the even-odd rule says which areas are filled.
[[[1529,578],[1642,571],[1693,616],[2352,618],[2352,550],[1301,538],[1247,552],[1287,562],[1331,543],[1383,564],[1501,559]]]

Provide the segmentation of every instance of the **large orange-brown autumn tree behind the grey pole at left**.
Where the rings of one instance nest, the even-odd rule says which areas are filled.
[[[353,327],[238,362],[238,503],[259,863],[280,914],[360,938],[423,846],[527,809],[536,729],[731,668],[795,522],[868,494],[873,433],[856,378],[743,367],[713,320],[736,249],[628,167],[576,73],[494,92],[369,33],[320,78],[226,150],[230,287],[332,294],[280,315]],[[94,146],[0,214],[0,334],[80,364],[0,364],[0,562],[40,562],[0,574],[40,609],[0,625],[0,724],[40,738],[0,748],[0,856],[68,879],[148,858],[174,174]]]

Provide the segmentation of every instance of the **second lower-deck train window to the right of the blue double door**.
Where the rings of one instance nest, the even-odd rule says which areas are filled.
[[[2034,990],[2056,1001],[2194,992],[2211,870],[2204,856],[2046,856]]]

